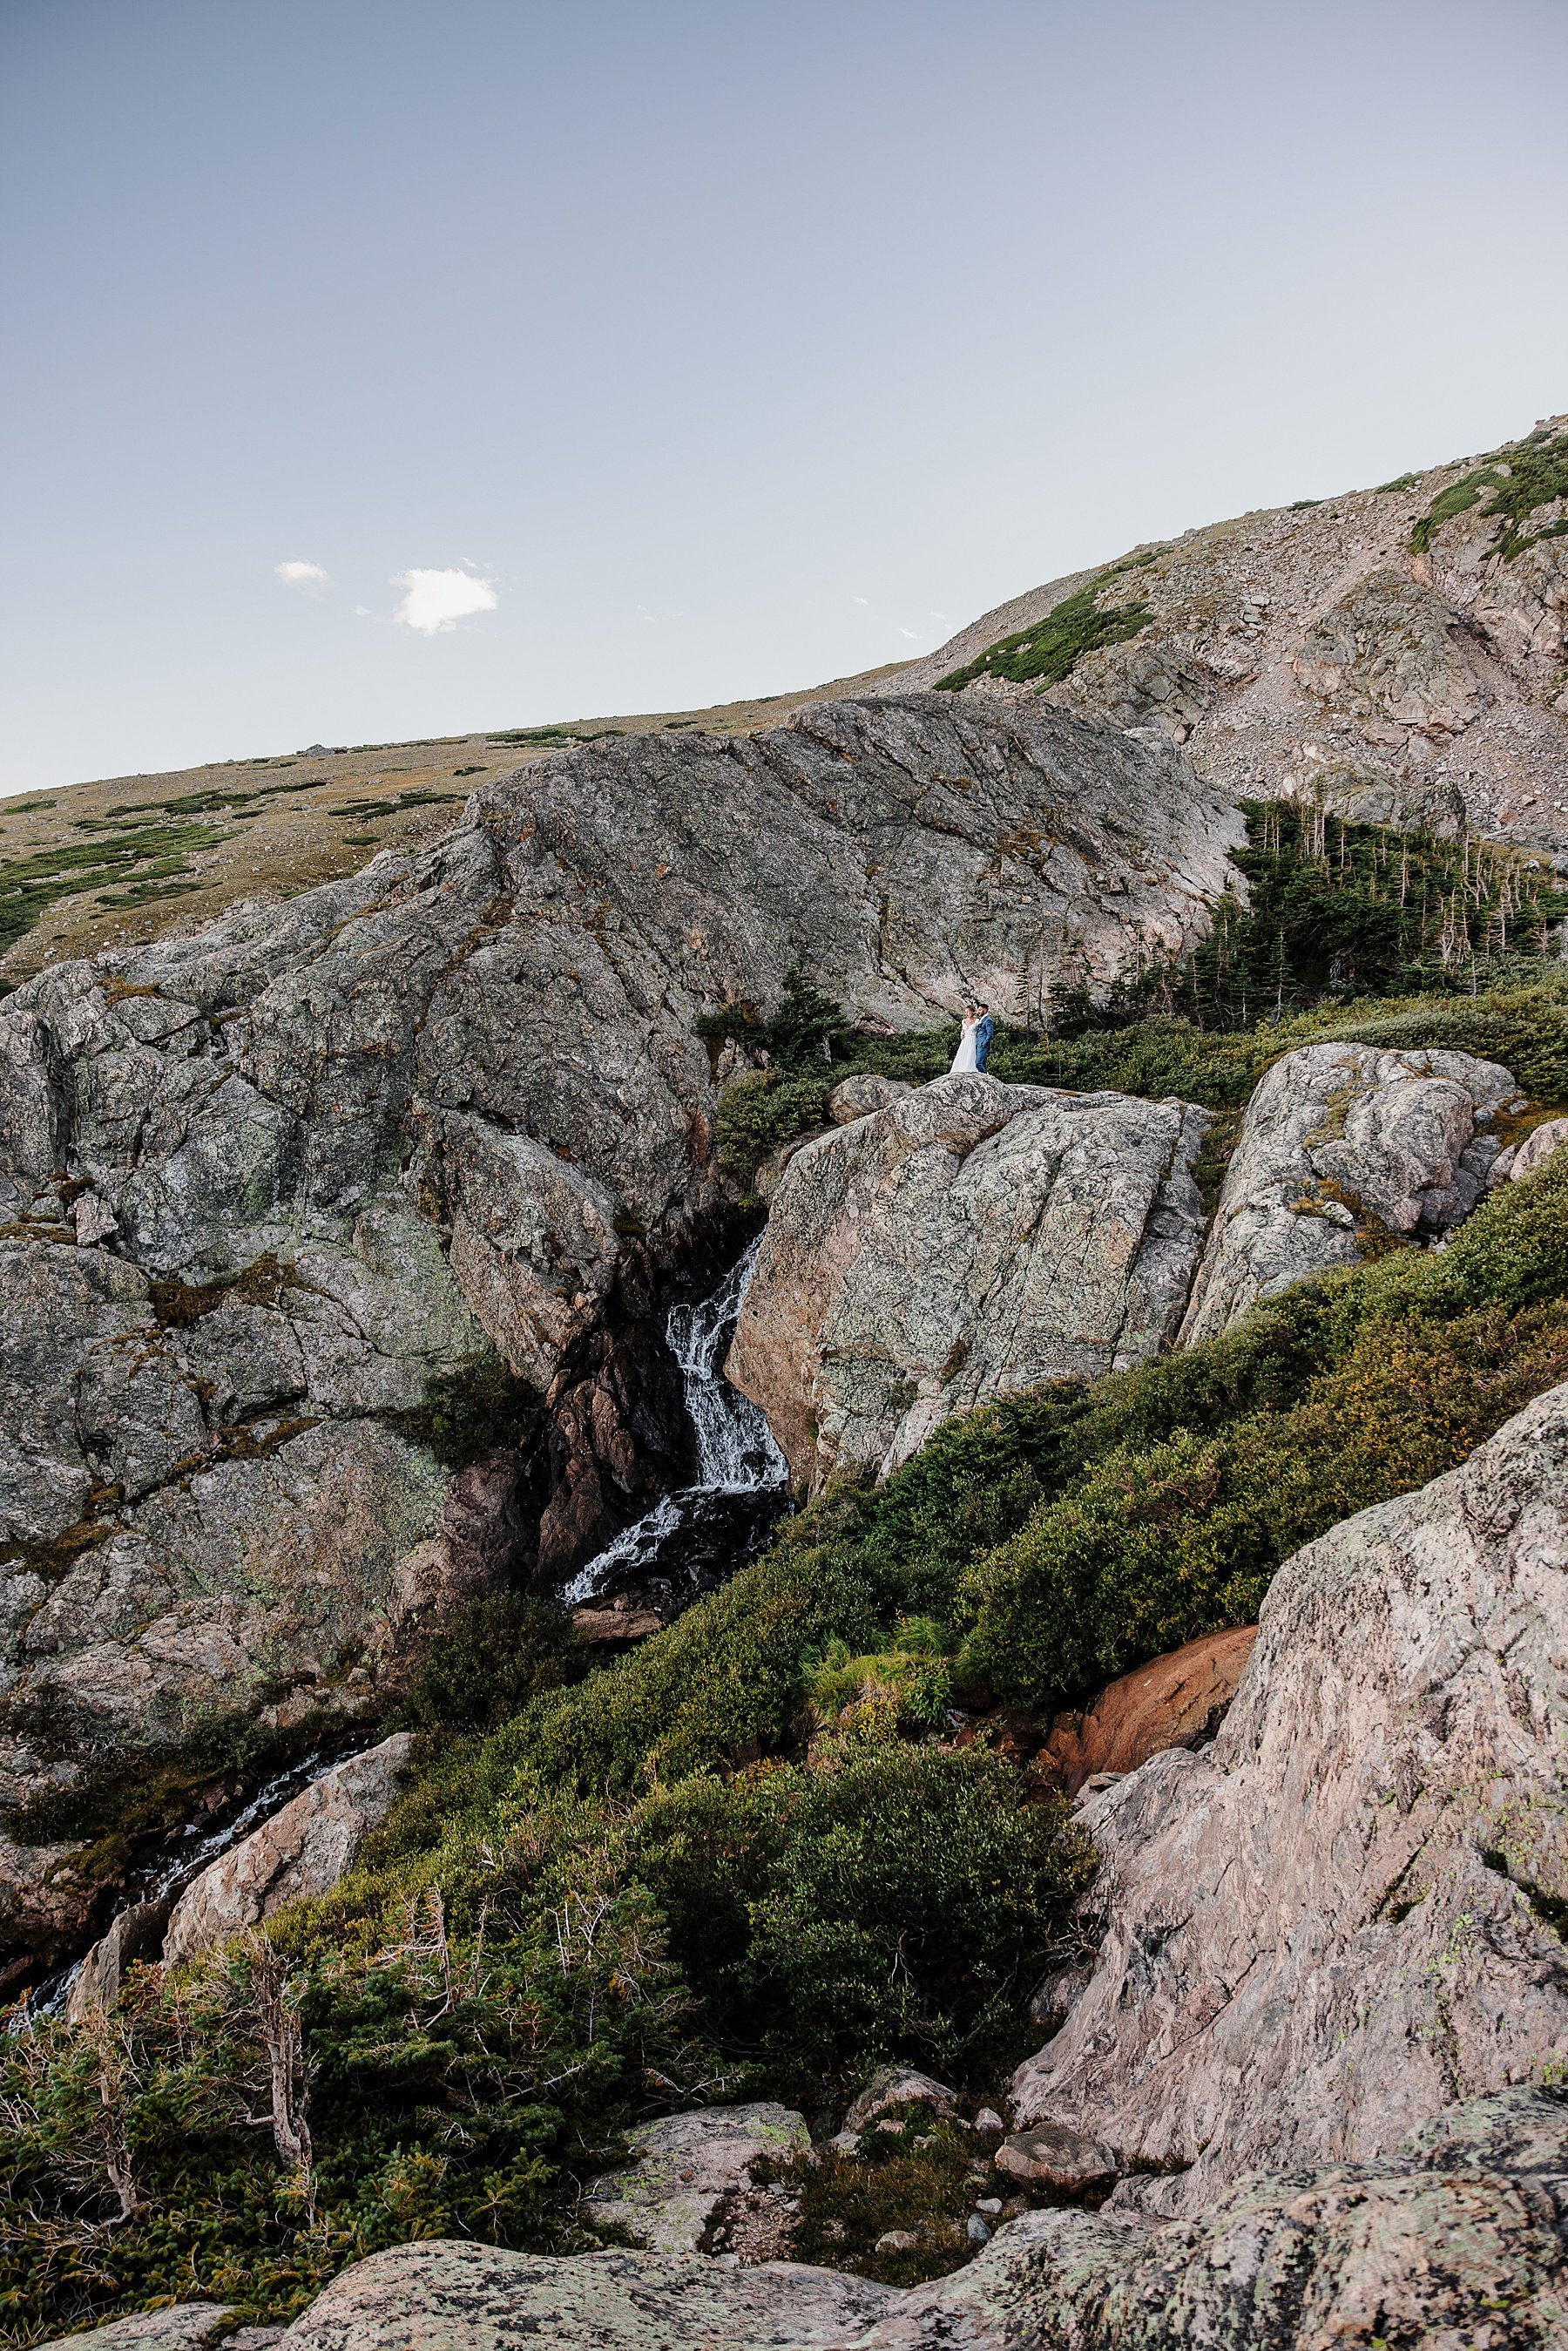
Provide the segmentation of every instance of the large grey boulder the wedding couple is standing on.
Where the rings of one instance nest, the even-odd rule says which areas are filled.
[[[795,1152],[726,1364],[795,1476],[893,1469],[952,1413],[1168,1345],[1204,1126],[964,1074]]]

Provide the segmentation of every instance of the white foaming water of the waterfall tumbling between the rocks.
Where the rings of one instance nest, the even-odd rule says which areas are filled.
[[[790,1465],[750,1396],[722,1373],[736,1314],[745,1300],[762,1239],[693,1307],[670,1307],[665,1340],[682,1368],[686,1415],[696,1436],[696,1483],[665,1493],[637,1526],[628,1526],[562,1592],[569,1608],[595,1599],[611,1582],[651,1568],[677,1528],[717,1493],[776,1493],[790,1481]]]

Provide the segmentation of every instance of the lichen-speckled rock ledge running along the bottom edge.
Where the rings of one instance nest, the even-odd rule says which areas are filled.
[[[45,2351],[200,2351],[179,2304]],[[1380,2163],[1251,2179],[1197,2219],[1048,2208],[896,2290],[802,2262],[576,2259],[468,2241],[355,2262],[287,2351],[1556,2351],[1568,2325],[1568,2097],[1439,2114]]]

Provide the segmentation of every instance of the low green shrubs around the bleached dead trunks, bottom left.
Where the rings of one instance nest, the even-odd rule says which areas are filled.
[[[541,1803],[494,1838],[463,1923],[435,1890],[348,1930],[303,1909],[282,1949],[136,1968],[113,2020],[0,2036],[12,2342],[190,2297],[287,2318],[421,2236],[581,2245],[583,2158],[654,2083],[691,2102],[724,2069],[614,1829]],[[303,2163],[266,2128],[289,2034]]]

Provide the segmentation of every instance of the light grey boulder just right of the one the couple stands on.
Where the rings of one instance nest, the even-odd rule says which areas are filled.
[[[1474,1053],[1307,1044],[1258,1081],[1180,1342],[1218,1338],[1260,1298],[1354,1265],[1380,1227],[1436,1241],[1486,1190],[1512,1074]]]

